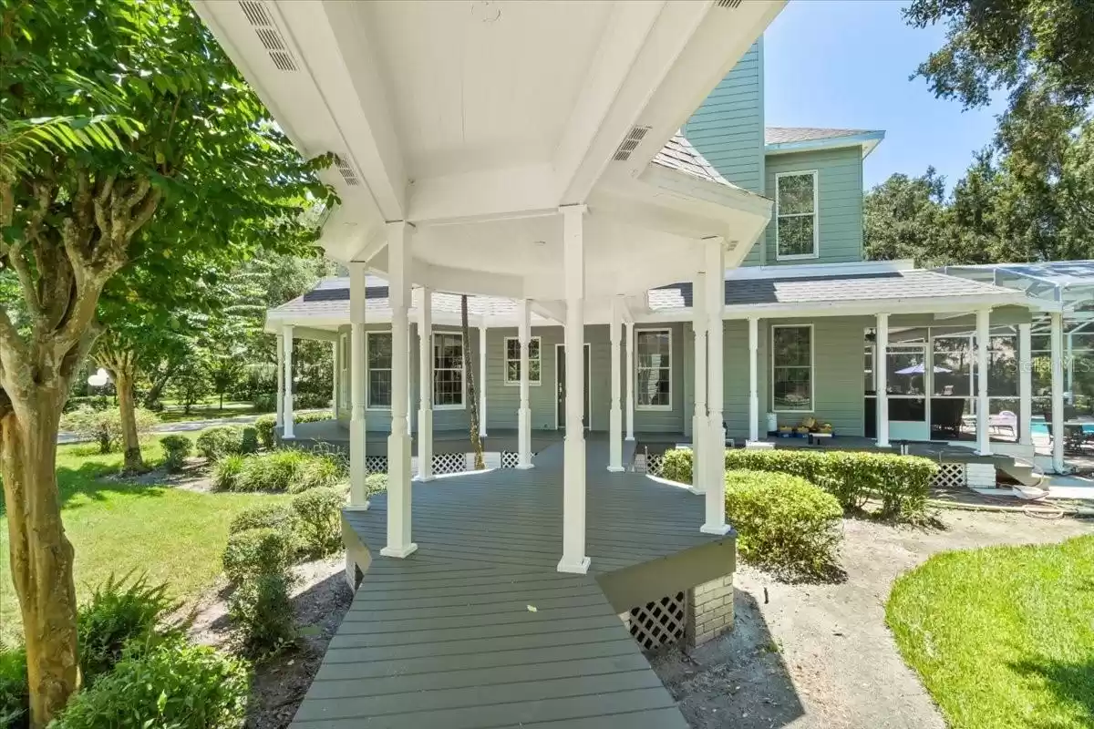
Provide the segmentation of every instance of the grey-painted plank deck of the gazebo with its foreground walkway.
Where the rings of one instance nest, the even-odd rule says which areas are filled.
[[[545,448],[529,471],[415,483],[418,552],[406,560],[380,555],[384,495],[368,512],[346,514],[350,539],[370,550],[372,564],[293,726],[687,727],[601,579],[731,545],[733,537],[699,532],[701,496],[608,473],[607,443],[593,436],[592,567],[559,574],[561,451],[561,444]],[[732,561],[719,567],[725,574]]]

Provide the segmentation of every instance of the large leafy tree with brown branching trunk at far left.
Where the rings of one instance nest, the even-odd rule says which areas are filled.
[[[0,0],[0,475],[33,726],[79,687],[56,443],[104,289],[314,240],[329,162],[299,157],[185,3]],[[185,227],[146,235],[161,215]]]

